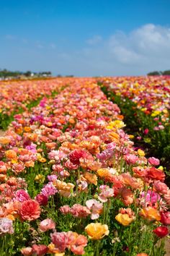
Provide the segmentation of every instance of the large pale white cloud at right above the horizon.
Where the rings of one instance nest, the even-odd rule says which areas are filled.
[[[102,74],[146,74],[170,68],[170,27],[146,24],[124,33],[117,31],[96,48],[81,54],[91,68]]]

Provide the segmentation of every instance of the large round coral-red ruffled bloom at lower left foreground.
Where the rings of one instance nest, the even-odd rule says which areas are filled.
[[[34,221],[40,217],[40,205],[35,200],[27,200],[22,202],[19,215],[24,221]]]

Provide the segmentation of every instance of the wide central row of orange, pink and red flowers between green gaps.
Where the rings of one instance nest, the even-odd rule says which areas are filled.
[[[93,79],[73,79],[55,98],[17,114],[0,137],[1,238],[14,239],[15,223],[28,223],[20,230],[31,236],[22,255],[99,255],[103,239],[116,250],[132,225],[135,236],[144,229],[169,234],[164,170],[157,158],[135,151],[122,119]],[[149,254],[135,242],[119,249]]]

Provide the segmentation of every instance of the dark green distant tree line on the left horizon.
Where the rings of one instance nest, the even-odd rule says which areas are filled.
[[[32,72],[32,71],[27,71],[27,72],[20,72],[20,71],[10,71],[7,69],[0,69],[0,78],[19,78],[19,77],[50,77],[51,72],[50,71],[45,71],[45,72]]]

